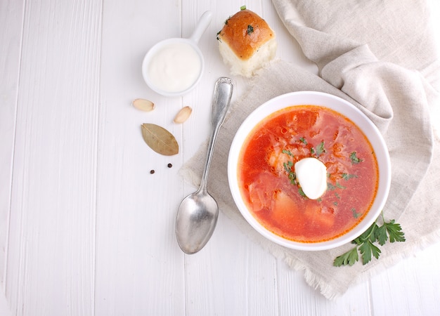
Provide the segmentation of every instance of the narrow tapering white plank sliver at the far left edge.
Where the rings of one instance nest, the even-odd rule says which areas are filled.
[[[0,1],[0,296],[6,278],[24,1]]]

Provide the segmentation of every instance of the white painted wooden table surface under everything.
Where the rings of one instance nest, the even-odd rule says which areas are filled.
[[[0,314],[440,315],[440,244],[336,301],[223,214],[202,251],[179,249],[176,210],[193,187],[178,170],[207,138],[214,81],[229,75],[216,32],[242,4],[276,31],[279,57],[313,70],[269,0],[0,0]],[[150,91],[143,55],[189,37],[207,10],[202,82],[183,98]],[[184,105],[192,116],[172,123]],[[180,153],[150,150],[145,122],[174,133]]]

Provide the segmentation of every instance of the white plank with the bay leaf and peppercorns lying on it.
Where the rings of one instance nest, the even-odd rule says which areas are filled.
[[[183,158],[153,152],[141,136],[141,124],[154,123],[183,145],[182,127],[172,122],[181,98],[157,95],[141,77],[148,49],[181,36],[180,16],[175,1],[114,0],[103,6],[96,315],[179,315],[184,310],[183,253],[174,234]],[[152,100],[155,110],[136,110],[131,106],[136,98]]]

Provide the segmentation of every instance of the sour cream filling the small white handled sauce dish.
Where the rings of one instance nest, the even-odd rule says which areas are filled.
[[[180,92],[197,81],[202,62],[188,43],[176,41],[161,47],[150,60],[148,77],[151,83],[167,92]]]

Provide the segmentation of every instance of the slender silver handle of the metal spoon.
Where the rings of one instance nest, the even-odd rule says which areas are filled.
[[[214,98],[212,99],[211,136],[209,138],[205,169],[203,170],[199,191],[207,192],[209,166],[211,166],[212,154],[214,153],[214,146],[220,126],[224,122],[229,104],[231,103],[232,91],[233,83],[230,78],[221,77],[216,81]]]

